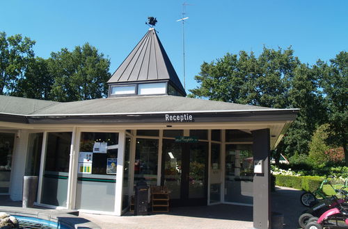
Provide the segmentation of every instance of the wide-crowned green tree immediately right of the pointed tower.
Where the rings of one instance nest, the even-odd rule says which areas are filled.
[[[195,76],[200,85],[190,90],[190,96],[287,108],[288,80],[299,65],[293,53],[290,48],[274,50],[264,47],[258,58],[253,52],[240,51],[238,56],[227,53],[216,62],[203,62],[200,74]]]

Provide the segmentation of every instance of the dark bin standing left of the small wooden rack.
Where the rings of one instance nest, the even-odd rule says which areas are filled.
[[[145,180],[139,180],[135,187],[134,215],[148,214],[148,191],[149,187]]]

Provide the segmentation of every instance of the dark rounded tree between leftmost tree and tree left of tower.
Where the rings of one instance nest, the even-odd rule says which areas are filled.
[[[49,100],[54,78],[49,74],[47,60],[35,58],[29,62],[24,78],[20,78],[11,94],[31,99]]]

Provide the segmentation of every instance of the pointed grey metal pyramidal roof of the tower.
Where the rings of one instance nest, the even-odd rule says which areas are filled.
[[[124,84],[156,81],[169,81],[183,95],[186,95],[171,60],[169,60],[164,47],[159,41],[155,28],[150,28],[107,83]]]

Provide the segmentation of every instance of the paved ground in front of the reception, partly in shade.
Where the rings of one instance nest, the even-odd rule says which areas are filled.
[[[284,228],[298,228],[297,219],[306,208],[299,201],[301,191],[277,187],[271,193],[272,212],[284,216]],[[0,196],[0,205],[22,205],[20,201],[6,202]],[[211,205],[203,207],[173,207],[168,214],[148,216],[114,217],[100,214],[81,213],[79,217],[92,221],[103,229],[108,228],[253,228],[253,208],[239,205]],[[0,206],[1,212],[1,206]]]

